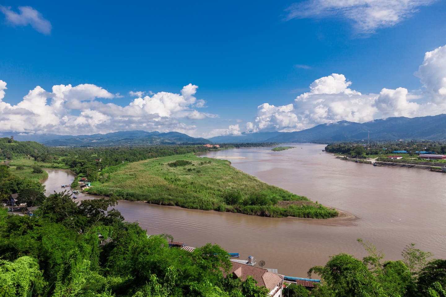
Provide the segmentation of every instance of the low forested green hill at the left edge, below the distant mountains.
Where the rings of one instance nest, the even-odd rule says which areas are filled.
[[[42,155],[48,148],[35,141],[15,141],[13,137],[0,138],[0,159]]]

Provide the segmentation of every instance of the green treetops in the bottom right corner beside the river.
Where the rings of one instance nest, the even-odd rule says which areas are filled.
[[[383,261],[384,254],[369,242],[359,243],[368,252],[363,260],[341,253],[331,256],[325,266],[315,266],[308,272],[322,277],[322,285],[311,293],[289,296],[326,297],[434,297],[446,296],[446,260],[435,259],[407,245],[403,261]],[[293,291],[294,292],[294,291]],[[284,290],[286,295],[286,289]]]

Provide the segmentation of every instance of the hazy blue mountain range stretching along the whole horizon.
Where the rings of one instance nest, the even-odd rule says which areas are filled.
[[[32,140],[46,146],[129,146],[157,144],[204,144],[243,142],[343,142],[365,140],[446,140],[446,114],[417,118],[386,118],[365,123],[339,121],[295,132],[257,132],[195,138],[179,132],[119,131],[93,135],[25,134],[2,132],[19,141]]]

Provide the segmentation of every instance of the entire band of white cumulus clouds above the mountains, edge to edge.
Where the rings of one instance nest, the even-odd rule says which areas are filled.
[[[289,104],[261,104],[254,120],[242,128],[235,124],[215,129],[215,124],[206,122],[213,127],[207,131],[204,125],[197,127],[196,121],[219,116],[197,110],[206,103],[195,98],[197,85],[188,84],[179,94],[129,92],[136,98],[124,106],[113,102],[116,94],[97,85],[54,85],[50,92],[36,86],[21,102],[11,105],[4,101],[7,85],[0,80],[0,131],[94,134],[157,130],[212,137],[240,135],[243,130],[297,131],[341,120],[368,122],[446,113],[446,45],[425,53],[415,75],[422,90],[383,88],[379,94],[362,94],[351,88],[351,81],[343,74],[333,73],[313,81],[308,92]]]

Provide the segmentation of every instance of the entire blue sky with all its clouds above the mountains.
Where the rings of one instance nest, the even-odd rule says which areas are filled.
[[[211,137],[446,112],[446,1],[158,2],[2,1],[0,132]]]

